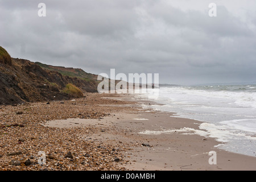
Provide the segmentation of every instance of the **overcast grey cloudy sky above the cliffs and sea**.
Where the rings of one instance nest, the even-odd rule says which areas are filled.
[[[11,57],[96,75],[115,69],[159,73],[166,84],[253,82],[256,1],[0,0],[0,46]]]

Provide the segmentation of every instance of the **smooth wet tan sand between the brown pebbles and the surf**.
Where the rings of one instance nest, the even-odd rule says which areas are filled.
[[[121,101],[130,101],[131,98],[127,95],[111,97]],[[129,163],[121,165],[126,170],[256,170],[256,157],[220,150],[217,145],[223,143],[217,142],[215,138],[198,135],[197,132],[204,132],[199,129],[202,122],[177,118],[174,113],[143,110],[141,102],[148,104],[148,101],[126,104],[126,107],[135,109],[112,113],[101,121],[68,119],[49,123],[55,127],[100,125],[114,129],[101,135],[90,135],[89,138],[130,146],[129,150],[125,151],[123,159]],[[209,163],[209,159],[213,162],[213,155],[209,155],[212,151],[216,152],[216,164]]]

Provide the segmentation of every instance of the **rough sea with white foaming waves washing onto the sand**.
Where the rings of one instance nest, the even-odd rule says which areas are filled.
[[[215,138],[221,143],[215,147],[256,157],[256,85],[164,85],[134,97],[155,103],[144,108],[203,122],[196,134]]]

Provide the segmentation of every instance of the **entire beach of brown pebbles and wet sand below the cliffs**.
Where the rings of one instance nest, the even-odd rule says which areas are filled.
[[[200,121],[144,109],[131,94],[0,109],[0,170],[255,170],[256,158],[217,147]],[[172,117],[170,117],[172,115]],[[39,151],[46,163],[39,164]],[[209,164],[210,151],[216,164]],[[44,156],[43,156],[44,157]]]

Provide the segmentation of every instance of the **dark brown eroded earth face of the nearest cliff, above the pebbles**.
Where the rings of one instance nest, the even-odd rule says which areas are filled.
[[[24,59],[12,58],[11,64],[0,61],[0,105],[76,98],[63,92],[69,83],[82,92],[97,92],[96,80],[62,75]]]

